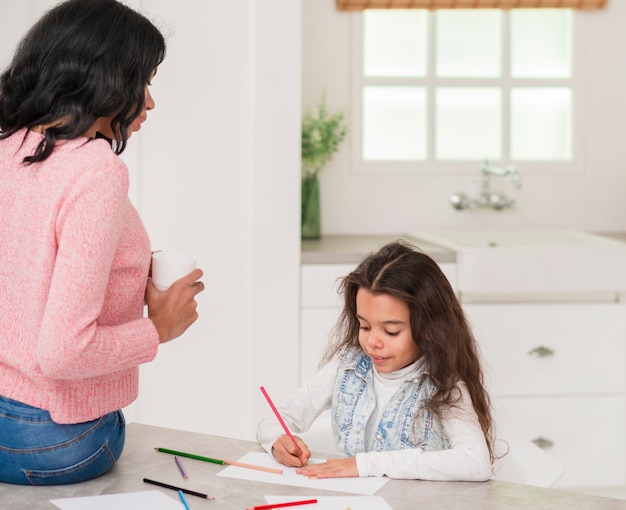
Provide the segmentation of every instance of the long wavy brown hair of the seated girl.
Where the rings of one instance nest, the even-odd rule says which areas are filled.
[[[461,304],[437,263],[405,241],[389,243],[365,258],[341,280],[344,308],[323,361],[346,347],[360,347],[356,310],[359,289],[388,294],[408,305],[413,340],[438,387],[428,408],[441,416],[445,407],[458,402],[457,384],[464,382],[493,462],[491,404],[478,346]]]

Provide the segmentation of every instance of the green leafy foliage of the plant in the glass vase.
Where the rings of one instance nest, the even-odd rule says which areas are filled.
[[[337,152],[348,130],[344,115],[328,111],[324,93],[319,107],[302,118],[302,177],[316,176]]]

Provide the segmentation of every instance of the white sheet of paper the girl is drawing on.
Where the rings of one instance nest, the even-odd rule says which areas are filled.
[[[354,494],[373,495],[389,478],[368,476],[367,478],[324,478],[322,480],[311,480],[306,476],[296,473],[296,468],[289,468],[276,462],[274,458],[261,452],[248,452],[237,459],[238,462],[254,464],[256,466],[282,469],[283,474],[266,473],[255,469],[242,468],[238,466],[228,466],[220,471],[217,476],[227,478],[238,478],[240,480],[254,480],[265,483],[278,483],[281,485],[292,485],[295,487],[308,487],[311,489],[323,489],[328,491],[351,492]],[[324,462],[323,459],[311,459],[311,462]]]

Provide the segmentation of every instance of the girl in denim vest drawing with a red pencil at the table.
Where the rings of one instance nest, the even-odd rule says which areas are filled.
[[[260,444],[318,478],[382,476],[483,481],[492,474],[490,402],[476,342],[439,266],[402,241],[343,278],[344,309],[320,371],[281,408],[305,432],[331,409],[345,458],[307,465],[310,451],[261,421]]]

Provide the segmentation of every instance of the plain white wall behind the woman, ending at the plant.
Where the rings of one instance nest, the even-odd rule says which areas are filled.
[[[0,67],[56,2],[0,0]],[[297,384],[299,0],[135,0],[168,34],[156,109],[130,142],[154,249],[194,251],[200,318],[141,370],[138,421],[254,438]]]

